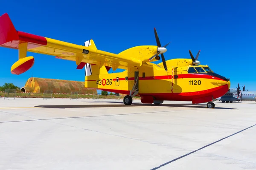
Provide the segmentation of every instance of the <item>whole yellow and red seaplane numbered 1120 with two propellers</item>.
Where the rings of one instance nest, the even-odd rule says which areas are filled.
[[[200,65],[198,56],[191,59],[165,60],[166,44],[160,44],[154,29],[157,45],[142,45],[129,48],[119,54],[101,51],[93,40],[76,45],[34,34],[17,31],[8,14],[0,17],[0,46],[18,49],[18,61],[11,67],[12,74],[22,74],[34,64],[34,57],[27,51],[55,56],[76,62],[77,69],[85,67],[85,88],[126,94],[125,105],[132,104],[134,96],[142,103],[159,105],[165,100],[207,103],[214,108],[213,99],[223,96],[230,88],[229,79],[214,73],[207,65]],[[160,57],[161,56],[161,57]],[[155,64],[154,61],[162,60]],[[108,73],[112,68],[125,71]]]

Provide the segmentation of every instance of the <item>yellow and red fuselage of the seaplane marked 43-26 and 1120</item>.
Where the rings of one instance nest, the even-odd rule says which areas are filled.
[[[137,95],[142,103],[163,100],[204,103],[227,93],[230,87],[227,78],[212,72],[207,65],[189,65],[191,62],[191,59],[166,61],[168,71],[162,63],[144,63],[139,69],[120,73],[101,74],[100,70],[99,74],[85,77],[85,88],[131,95],[137,74]]]

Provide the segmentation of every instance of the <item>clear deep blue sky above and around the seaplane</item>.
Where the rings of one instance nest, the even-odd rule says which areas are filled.
[[[0,15],[8,13],[19,31],[83,45],[93,39],[103,51],[119,53],[137,45],[156,45],[154,27],[166,59],[190,58],[201,49],[199,61],[218,74],[256,90],[256,1],[63,1],[5,0]],[[18,51],[0,48],[0,85],[22,87],[29,77],[84,81],[76,63],[54,56],[28,53],[34,66],[13,75]],[[111,70],[112,71],[112,70]]]

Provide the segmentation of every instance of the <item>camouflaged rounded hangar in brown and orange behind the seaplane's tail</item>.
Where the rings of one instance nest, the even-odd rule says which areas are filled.
[[[44,79],[30,77],[25,86],[20,89],[26,93],[44,93],[44,91],[52,91],[52,93],[71,93],[79,94],[97,94],[96,89],[84,88],[84,82],[60,80],[60,79]]]

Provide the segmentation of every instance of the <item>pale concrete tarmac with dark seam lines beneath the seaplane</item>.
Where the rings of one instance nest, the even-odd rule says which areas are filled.
[[[256,169],[256,102],[0,98],[0,170]]]

